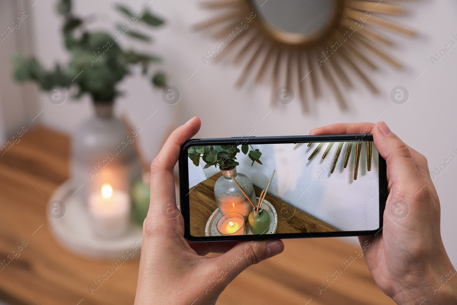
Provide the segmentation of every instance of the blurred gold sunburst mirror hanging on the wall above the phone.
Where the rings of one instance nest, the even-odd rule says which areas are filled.
[[[386,51],[393,46],[388,32],[409,37],[415,32],[383,18],[404,14],[403,6],[392,2],[212,0],[203,2],[203,9],[216,12],[195,28],[220,41],[202,57],[205,64],[225,58],[244,65],[237,86],[269,82],[274,103],[288,104],[297,94],[304,111],[307,96],[316,99],[329,89],[346,109],[345,91],[355,84],[378,92],[369,77],[378,70],[373,55],[402,68]]]

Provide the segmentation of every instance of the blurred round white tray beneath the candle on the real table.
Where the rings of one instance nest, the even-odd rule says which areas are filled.
[[[116,258],[125,254],[136,241],[143,242],[142,227],[133,223],[126,234],[118,238],[106,239],[96,235],[86,203],[78,196],[72,196],[73,193],[72,183],[66,181],[56,189],[49,200],[60,200],[67,208],[66,214],[60,219],[54,219],[46,212],[49,227],[60,244],[86,257]],[[141,247],[138,248],[135,254],[140,253]]]

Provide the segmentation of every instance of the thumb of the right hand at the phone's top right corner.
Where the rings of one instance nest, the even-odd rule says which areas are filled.
[[[377,123],[372,128],[372,133],[379,154],[386,160],[390,181],[395,188],[393,198],[413,198],[425,182],[414,164],[408,147],[384,122]]]

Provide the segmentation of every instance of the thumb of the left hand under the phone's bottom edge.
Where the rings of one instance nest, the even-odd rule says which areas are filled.
[[[284,251],[284,244],[281,240],[243,241],[225,254],[208,260],[207,264],[210,264],[214,270],[225,271],[226,274],[220,283],[225,287],[244,269],[282,251]]]

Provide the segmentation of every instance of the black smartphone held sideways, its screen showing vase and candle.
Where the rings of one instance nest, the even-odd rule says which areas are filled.
[[[191,139],[179,157],[189,241],[376,235],[386,161],[372,134]]]

